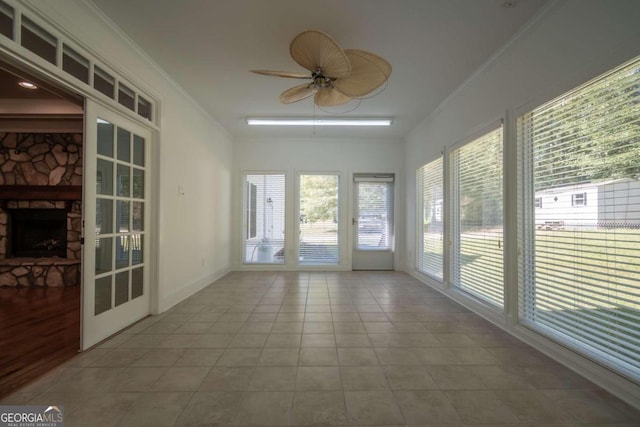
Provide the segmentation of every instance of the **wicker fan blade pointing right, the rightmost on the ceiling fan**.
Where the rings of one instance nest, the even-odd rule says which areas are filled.
[[[351,97],[365,96],[380,87],[391,75],[391,64],[371,52],[345,50],[351,62],[351,74],[337,79],[333,85]]]

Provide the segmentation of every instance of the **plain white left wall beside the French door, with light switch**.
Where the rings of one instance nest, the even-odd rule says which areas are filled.
[[[231,137],[92,5],[82,0],[26,3],[161,103],[153,141],[157,282],[152,287],[163,311],[229,271]]]

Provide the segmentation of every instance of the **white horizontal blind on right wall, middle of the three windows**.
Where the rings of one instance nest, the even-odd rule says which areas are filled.
[[[454,286],[502,309],[502,127],[453,151]]]

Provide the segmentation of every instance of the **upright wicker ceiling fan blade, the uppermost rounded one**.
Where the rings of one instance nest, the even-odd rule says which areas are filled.
[[[351,65],[344,51],[327,34],[308,30],[298,34],[289,46],[294,61],[315,73],[318,69],[331,78],[346,77]]]

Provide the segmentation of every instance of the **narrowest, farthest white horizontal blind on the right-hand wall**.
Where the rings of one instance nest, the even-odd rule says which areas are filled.
[[[442,157],[418,169],[418,270],[442,280],[444,229]]]

